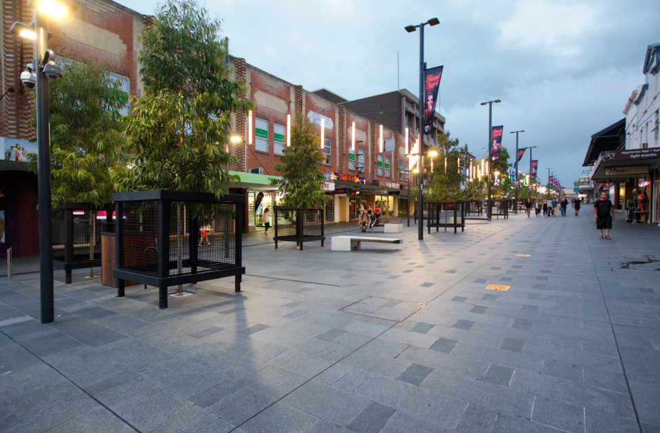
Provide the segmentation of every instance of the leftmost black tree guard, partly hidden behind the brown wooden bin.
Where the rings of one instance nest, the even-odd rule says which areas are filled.
[[[101,233],[113,231],[112,207],[64,203],[54,208],[52,219],[53,267],[63,269],[65,282],[71,284],[72,269],[101,265]]]

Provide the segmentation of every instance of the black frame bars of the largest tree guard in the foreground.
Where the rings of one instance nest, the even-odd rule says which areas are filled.
[[[171,191],[171,190],[151,190],[141,192],[119,192],[112,195],[115,202],[117,219],[115,223],[116,232],[116,248],[115,248],[115,261],[116,268],[113,270],[113,275],[117,278],[118,296],[124,296],[124,280],[131,280],[140,282],[145,285],[151,285],[159,288],[159,307],[161,309],[167,308],[167,288],[175,285],[183,285],[189,283],[197,283],[199,281],[214,280],[216,278],[223,278],[227,276],[234,276],[235,278],[235,291],[241,291],[241,276],[245,274],[245,267],[243,267],[242,247],[243,247],[243,223],[245,214],[245,196],[225,194],[220,199],[215,195],[205,192],[187,192],[187,191]],[[148,203],[151,203],[149,207]],[[172,207],[177,203],[184,204],[184,232],[187,235],[178,238],[178,234],[173,236],[170,230],[170,219],[172,216]],[[200,258],[203,255],[201,246],[197,245],[197,234],[200,230],[200,222],[197,217],[191,217],[191,209],[195,203],[202,203],[210,206],[219,206],[219,208],[232,208],[232,226],[227,225],[230,219],[227,214],[223,217],[225,221],[223,236],[225,247],[213,250],[213,253],[219,251],[224,252],[225,257],[229,260],[219,260],[219,256],[211,256],[206,254],[206,258]],[[132,212],[146,212],[149,210],[151,216],[155,216],[153,221],[144,223],[142,221],[142,214],[136,214],[137,222],[129,221],[126,215],[126,209],[133,207]],[[142,210],[136,210],[137,206],[142,206]],[[215,218],[218,218],[216,215]],[[131,231],[129,224],[137,224],[140,226],[148,226],[153,230],[140,230]],[[176,228],[176,227],[175,227]],[[233,230],[230,230],[233,228]],[[230,236],[232,235],[232,236]],[[140,255],[134,256],[138,263],[128,265],[124,261],[126,252],[139,252],[142,246],[146,245],[144,241],[131,243],[131,236],[142,236],[148,238],[151,236],[151,243],[148,247],[144,248],[142,260]],[[194,236],[194,239],[193,239]],[[231,238],[230,238],[231,237]],[[171,260],[171,243],[175,242],[175,247],[183,248],[177,242],[185,241],[187,238],[187,252],[188,258],[183,260],[185,262],[186,273],[171,274],[171,269],[177,267],[177,260]],[[202,241],[202,238],[199,239]],[[137,245],[137,248],[136,248]],[[211,245],[208,245],[210,248]],[[124,250],[126,248],[126,251]],[[131,250],[132,248],[132,250]],[[148,250],[148,251],[147,251]],[[206,250],[210,252],[211,249]],[[167,254],[163,254],[167,252]],[[147,254],[148,253],[148,254]],[[229,255],[228,255],[229,254]],[[147,263],[147,257],[155,258]],[[215,260],[212,260],[215,258]]]

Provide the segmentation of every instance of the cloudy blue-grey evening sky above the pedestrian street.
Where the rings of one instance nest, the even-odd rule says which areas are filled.
[[[118,0],[144,14],[159,1]],[[657,0],[212,0],[230,52],[289,82],[325,87],[349,100],[419,91],[419,32],[428,67],[444,65],[440,113],[452,137],[487,153],[488,110],[505,127],[504,146],[538,146],[547,168],[572,183],[591,135],[624,118],[646,47],[660,43]],[[399,56],[397,68],[397,53]],[[397,75],[398,71],[398,75]],[[397,78],[398,77],[398,78]],[[529,154],[520,162],[527,171]]]

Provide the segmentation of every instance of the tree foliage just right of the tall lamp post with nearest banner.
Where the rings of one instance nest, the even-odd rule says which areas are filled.
[[[426,188],[426,198],[430,200],[462,199],[465,193],[461,190],[461,182],[465,180],[465,163],[467,162],[467,146],[460,146],[458,138],[451,138],[446,132],[438,136],[439,155],[435,158],[426,157],[424,166],[430,179]],[[445,169],[445,158],[447,159]],[[459,158],[461,166],[459,168]],[[430,170],[430,160],[433,159],[433,170]]]

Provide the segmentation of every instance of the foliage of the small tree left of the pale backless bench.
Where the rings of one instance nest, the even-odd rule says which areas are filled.
[[[297,118],[291,126],[291,146],[285,147],[281,163],[274,167],[282,175],[282,180],[274,184],[285,192],[286,206],[323,206],[323,159],[314,124]]]

